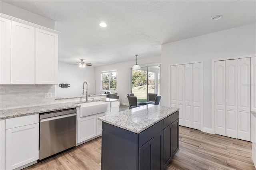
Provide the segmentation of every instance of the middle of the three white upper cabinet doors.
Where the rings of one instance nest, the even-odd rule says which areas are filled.
[[[35,83],[35,28],[12,21],[11,83]]]

